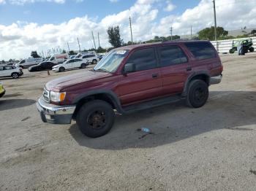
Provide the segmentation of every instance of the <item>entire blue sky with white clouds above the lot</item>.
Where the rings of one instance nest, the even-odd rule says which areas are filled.
[[[255,0],[216,4],[217,26],[256,26]],[[52,54],[56,47],[67,50],[67,43],[78,50],[77,38],[82,49],[89,49],[94,47],[91,31],[108,48],[109,26],[119,26],[128,42],[129,17],[136,42],[169,36],[170,26],[173,35],[190,35],[191,26],[193,34],[214,26],[212,0],[0,0],[0,60],[28,58],[32,50]]]

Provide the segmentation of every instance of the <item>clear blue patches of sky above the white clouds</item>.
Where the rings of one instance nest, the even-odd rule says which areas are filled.
[[[199,0],[180,1],[173,0],[176,5],[173,14],[181,14],[185,9],[195,7]],[[55,2],[37,2],[25,4],[6,3],[0,6],[0,24],[10,25],[19,21],[28,23],[38,23],[39,25],[46,23],[59,24],[74,17],[83,17],[88,15],[93,19],[101,20],[106,15],[112,15],[129,9],[135,4],[135,0],[119,0],[111,2],[110,0],[91,1],[84,0],[77,2],[75,0],[67,0],[64,4]],[[156,7],[164,7],[165,1],[154,4]],[[159,12],[158,18],[168,15],[169,12]]]

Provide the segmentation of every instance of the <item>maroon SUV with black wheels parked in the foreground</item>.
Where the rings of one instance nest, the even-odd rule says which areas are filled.
[[[222,69],[207,41],[120,47],[91,71],[48,82],[37,109],[43,122],[76,120],[86,136],[103,136],[113,126],[114,109],[125,114],[182,98],[188,106],[203,106],[208,86],[221,82]]]

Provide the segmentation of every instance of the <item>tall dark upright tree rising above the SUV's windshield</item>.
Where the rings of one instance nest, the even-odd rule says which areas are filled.
[[[122,44],[122,39],[120,36],[120,30],[119,30],[119,26],[113,27],[110,26],[108,27],[108,42],[110,44],[112,44],[113,47],[121,47]]]

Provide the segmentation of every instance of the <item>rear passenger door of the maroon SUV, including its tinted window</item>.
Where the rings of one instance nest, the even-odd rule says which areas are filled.
[[[163,94],[181,93],[192,68],[184,50],[178,45],[157,47],[162,71]]]

